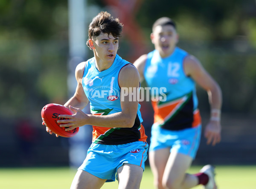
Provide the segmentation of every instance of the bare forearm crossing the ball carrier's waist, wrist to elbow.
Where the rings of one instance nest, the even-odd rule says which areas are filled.
[[[131,128],[135,122],[135,116],[129,116],[122,112],[106,116],[88,115],[86,124],[108,128]]]

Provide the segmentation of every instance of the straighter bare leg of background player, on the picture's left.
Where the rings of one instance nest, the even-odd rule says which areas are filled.
[[[163,148],[149,152],[149,163],[154,175],[154,186],[157,189],[164,189],[162,185],[163,172],[170,155],[170,148]]]

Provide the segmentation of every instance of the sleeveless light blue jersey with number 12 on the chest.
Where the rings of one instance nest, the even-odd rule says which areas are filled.
[[[144,77],[148,87],[166,88],[166,100],[152,102],[154,123],[166,129],[192,127],[193,111],[198,107],[195,81],[184,73],[183,61],[187,55],[176,47],[172,55],[161,58],[154,50],[148,53],[145,63]]]

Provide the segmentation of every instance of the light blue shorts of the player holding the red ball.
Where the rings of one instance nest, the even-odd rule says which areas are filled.
[[[87,156],[78,168],[96,177],[107,179],[106,182],[117,180],[117,169],[124,163],[134,164],[145,169],[148,143],[137,141],[121,145],[104,145],[92,143]]]

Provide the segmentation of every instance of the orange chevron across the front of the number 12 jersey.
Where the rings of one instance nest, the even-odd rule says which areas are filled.
[[[175,115],[177,110],[186,102],[188,96],[183,96],[172,102],[167,102],[163,105],[158,105],[158,102],[152,101],[152,107],[154,109],[154,123],[162,125],[168,119]]]

